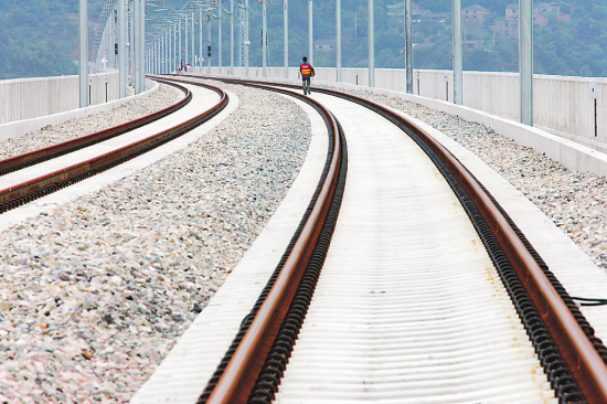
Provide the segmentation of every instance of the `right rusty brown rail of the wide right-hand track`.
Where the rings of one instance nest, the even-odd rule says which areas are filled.
[[[210,78],[210,77],[200,77]],[[213,78],[213,77],[211,77]],[[277,84],[258,81],[236,81],[221,78],[223,82],[234,84],[265,84],[300,88],[297,85]],[[345,95],[343,93],[313,88],[315,92],[347,98],[364,105],[373,110],[381,111],[388,119],[400,123],[414,132],[425,142],[449,168],[451,173],[460,181],[470,199],[483,216],[494,237],[510,259],[515,273],[531,295],[543,320],[550,327],[552,338],[563,353],[563,357],[579,383],[579,386],[590,404],[607,403],[607,365],[589,340],[589,337],[573,316],[569,307],[555,289],[544,269],[537,264],[517,231],[493,203],[491,195],[478,183],[477,179],[459,160],[440,142],[434,139],[420,127],[405,119],[403,116],[366,99]]]

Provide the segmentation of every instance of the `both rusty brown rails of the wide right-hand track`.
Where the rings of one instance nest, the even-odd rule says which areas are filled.
[[[284,87],[299,89],[298,86],[277,86],[271,83],[222,81],[280,93],[286,92]],[[402,136],[408,136],[417,143],[457,195],[479,238],[482,240],[490,261],[503,283],[503,288],[508,290],[509,299],[512,301],[520,322],[533,344],[536,359],[556,397],[555,402],[607,403],[607,368],[605,365],[607,349],[594,334],[590,325],[540,255],[486,188],[443,145],[400,114],[372,102],[329,89],[313,88],[313,93],[323,94],[318,97],[323,102],[328,100],[327,96],[339,97],[368,108],[396,126],[402,131]],[[345,164],[348,161],[345,139],[340,130],[340,124],[332,114],[322,107],[321,103],[311,99],[315,98],[315,94],[306,102],[322,114],[331,138],[324,174],[315,195],[315,198],[322,196],[310,202],[300,227],[294,235],[283,259],[254,308],[243,319],[237,336],[206,384],[198,403],[269,403],[276,397],[278,397],[278,402],[308,402],[308,398],[301,395],[302,391],[297,389],[290,393],[295,395],[291,401],[288,398],[289,393],[278,396],[276,393],[279,391],[285,374],[287,381],[289,380],[287,363],[290,361],[294,345],[297,344],[298,334],[302,323],[305,325],[303,320],[309,310],[312,295],[315,295],[315,287],[327,256],[326,249],[331,243],[330,232],[336,225],[339,227],[340,224],[340,221],[337,220],[338,205],[343,198],[343,188],[347,189]],[[290,95],[303,98],[297,93],[291,92]],[[339,155],[340,150],[343,153],[341,156]],[[338,167],[341,167],[341,170]],[[342,176],[339,180],[333,177],[338,171],[341,171]],[[334,194],[331,196],[333,192]],[[328,223],[320,219],[323,215],[330,217]],[[397,221],[398,219],[392,220]],[[320,235],[322,231],[329,233]],[[320,252],[316,256],[312,254],[315,248],[322,248],[324,252]],[[330,248],[329,254],[331,254]],[[382,258],[376,257],[376,259]],[[326,309],[330,310],[330,306]],[[318,349],[322,350],[321,347],[323,347],[322,343],[315,345],[312,352]],[[312,359],[302,360],[303,372],[306,369],[316,369],[313,366],[306,368],[310,365],[311,361]],[[332,369],[329,368],[328,374]],[[291,389],[289,383],[287,382],[285,386],[287,392]],[[317,383],[319,383],[318,380]],[[316,386],[318,384],[307,385],[311,391],[315,391]],[[505,389],[512,390],[508,386]],[[323,387],[319,386],[318,390],[322,391]],[[369,391],[372,390],[370,386]],[[342,396],[349,398],[340,398]],[[376,396],[373,397],[379,400]],[[440,401],[443,398],[445,401]],[[468,402],[455,398],[451,401],[448,396],[443,398],[424,401],[419,397],[418,401],[416,398],[406,401],[403,397],[403,401],[400,401],[398,396],[393,396],[386,398],[386,402]],[[337,392],[333,395],[321,395],[321,398],[311,394],[309,402],[329,402],[331,400],[349,402],[349,400],[358,401],[360,397],[352,398],[345,392],[341,395]],[[500,402],[500,398],[496,400],[496,403]],[[543,400],[545,401],[541,402],[552,403],[550,396]]]

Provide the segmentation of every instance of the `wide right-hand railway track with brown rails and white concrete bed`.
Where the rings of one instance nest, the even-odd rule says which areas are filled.
[[[331,139],[322,198],[214,344],[226,353],[196,402],[606,403],[607,350],[487,189],[398,114],[321,88],[306,102]],[[134,403],[171,391],[159,373]]]

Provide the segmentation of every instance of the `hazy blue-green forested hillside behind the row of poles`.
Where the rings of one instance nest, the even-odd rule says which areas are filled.
[[[185,0],[164,0],[181,8]],[[482,29],[465,28],[466,40],[477,49],[464,54],[466,70],[518,71],[518,40],[497,38],[493,28],[504,18],[505,7],[517,0],[462,0],[462,8],[479,4],[491,15]],[[403,67],[402,17],[388,8],[398,0],[375,0],[375,66]],[[414,24],[414,67],[451,68],[451,0],[416,0],[416,6],[444,13],[445,21]],[[539,4],[534,1],[534,4]],[[97,22],[104,0],[88,0],[89,21]],[[223,0],[230,8],[230,0]],[[308,2],[289,1],[289,64],[297,65],[308,52]],[[315,0],[315,40],[336,38],[334,0]],[[607,76],[607,0],[568,0],[563,3],[569,21],[549,14],[544,26],[534,28],[535,73]],[[343,66],[368,64],[368,0],[342,0]],[[230,64],[230,22],[224,12],[223,65]],[[215,20],[216,22],[216,20]],[[78,55],[77,0],[0,0],[0,78],[76,74]],[[153,29],[150,25],[150,32]],[[262,64],[262,7],[251,1],[251,64]],[[216,23],[213,42],[217,38]],[[268,2],[268,62],[283,65],[283,1]],[[476,41],[476,42],[475,42]],[[216,45],[214,44],[214,49]],[[213,64],[216,65],[216,52]],[[336,51],[316,51],[317,66],[334,66]]]

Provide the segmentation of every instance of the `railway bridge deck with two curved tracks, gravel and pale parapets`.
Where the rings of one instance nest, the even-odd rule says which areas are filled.
[[[0,83],[0,402],[607,402],[607,82],[252,72]]]

